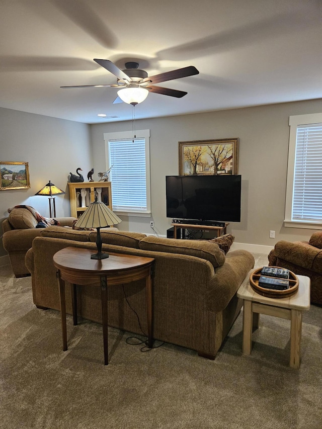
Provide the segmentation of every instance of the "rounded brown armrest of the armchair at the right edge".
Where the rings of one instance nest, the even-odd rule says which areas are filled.
[[[322,274],[322,250],[307,241],[278,241],[274,253],[277,259]]]

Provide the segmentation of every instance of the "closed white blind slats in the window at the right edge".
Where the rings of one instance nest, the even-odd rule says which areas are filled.
[[[322,221],[322,123],[297,126],[292,220]]]

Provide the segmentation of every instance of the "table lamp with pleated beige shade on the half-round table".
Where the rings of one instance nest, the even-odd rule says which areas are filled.
[[[79,228],[96,228],[97,253],[91,255],[91,259],[108,258],[108,253],[102,252],[102,237],[100,229],[104,226],[112,226],[121,223],[121,219],[116,216],[102,201],[94,201],[85,210],[82,216],[75,223]]]

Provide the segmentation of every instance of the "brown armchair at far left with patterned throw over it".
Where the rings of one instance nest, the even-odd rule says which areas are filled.
[[[62,226],[72,226],[74,217],[57,217]],[[25,256],[32,241],[38,237],[42,228],[36,228],[37,220],[28,209],[15,208],[3,221],[3,245],[7,250],[16,277],[26,277],[30,273],[25,265]]]

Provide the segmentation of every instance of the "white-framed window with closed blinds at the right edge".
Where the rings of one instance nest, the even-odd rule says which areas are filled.
[[[322,113],[290,116],[285,226],[322,229]]]

